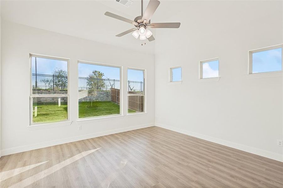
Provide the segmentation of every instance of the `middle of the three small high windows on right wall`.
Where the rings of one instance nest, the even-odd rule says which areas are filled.
[[[215,78],[219,77],[219,59],[200,61],[199,78]]]

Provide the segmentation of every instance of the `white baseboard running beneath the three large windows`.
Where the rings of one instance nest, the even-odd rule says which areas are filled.
[[[19,146],[19,147],[14,147],[14,148],[2,149],[1,150],[1,156],[16,154],[16,153],[20,153],[20,152],[24,152],[24,151],[30,151],[30,150],[33,150],[33,149],[45,148],[45,147],[49,147],[49,146],[55,146],[55,145],[59,145],[59,144],[65,144],[65,143],[69,143],[69,142],[75,142],[75,141],[79,141],[79,140],[85,140],[85,139],[89,139],[89,138],[105,136],[105,135],[109,135],[109,134],[122,133],[122,132],[126,132],[126,131],[136,130],[136,129],[140,129],[140,128],[146,128],[146,127],[152,127],[152,126],[154,126],[154,123],[147,123],[147,124],[136,125],[136,126],[131,126],[131,127],[117,128],[117,129],[112,129],[112,130],[107,130],[107,131],[101,131],[101,132],[98,132],[98,133],[90,133],[90,134],[84,134],[84,135],[69,137],[69,138],[51,140],[51,141],[47,141],[47,142],[41,142],[41,143],[38,143],[38,144],[30,144],[30,145],[24,145],[24,146]]]

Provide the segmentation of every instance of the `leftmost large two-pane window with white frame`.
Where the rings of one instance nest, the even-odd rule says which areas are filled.
[[[69,59],[30,54],[30,124],[69,120]]]

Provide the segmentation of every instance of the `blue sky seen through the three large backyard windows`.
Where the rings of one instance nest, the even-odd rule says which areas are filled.
[[[36,58],[36,70],[37,74],[52,75],[52,72],[56,69],[62,69],[67,71],[67,61],[52,60],[45,58]],[[31,70],[35,74],[35,57],[31,59]],[[120,69],[117,67],[91,65],[85,63],[79,63],[79,77],[88,77],[93,70],[98,70],[104,73],[103,78],[120,80]],[[128,80],[131,81],[143,81],[143,71],[141,70],[128,70]]]

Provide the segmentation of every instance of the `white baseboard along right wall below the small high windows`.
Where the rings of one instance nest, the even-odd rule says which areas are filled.
[[[207,140],[207,141],[210,141],[210,142],[214,142],[216,144],[228,146],[230,148],[239,149],[239,150],[242,150],[242,151],[245,151],[245,152],[248,152],[248,153],[252,153],[252,154],[256,154],[256,155],[259,155],[259,156],[262,156],[262,157],[266,157],[266,158],[269,158],[269,159],[274,159],[274,160],[283,162],[283,155],[276,154],[276,153],[273,153],[273,152],[269,152],[269,151],[266,151],[266,150],[263,150],[263,149],[253,148],[253,147],[250,147],[250,146],[238,144],[238,143],[235,143],[235,142],[230,142],[230,141],[227,141],[227,140],[222,140],[222,139],[207,136],[207,135],[204,135],[204,134],[195,133],[195,132],[192,132],[192,131],[187,131],[187,130],[184,130],[184,129],[167,126],[167,125],[164,125],[164,124],[161,124],[161,123],[155,123],[155,126],[165,128],[165,129],[168,129],[168,130],[171,130],[171,131],[175,131],[177,133],[182,133],[182,134],[186,134],[186,135],[193,136],[193,137],[196,137],[196,138],[200,138],[200,139],[203,139],[203,140]]]

